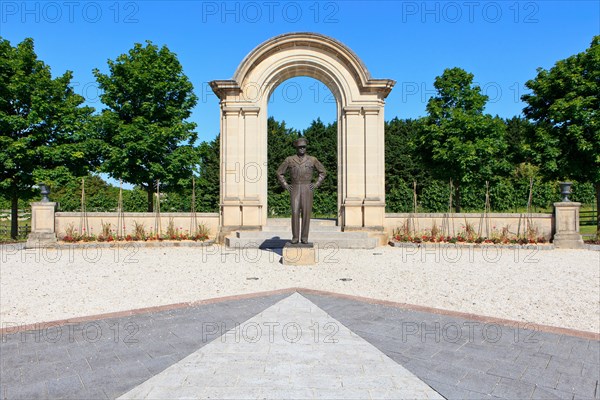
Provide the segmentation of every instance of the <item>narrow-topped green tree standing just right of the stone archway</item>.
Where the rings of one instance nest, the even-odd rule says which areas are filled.
[[[427,103],[420,149],[438,178],[454,181],[459,212],[463,184],[483,186],[510,170],[504,158],[506,126],[483,113],[488,97],[473,85],[473,74],[446,69],[434,86],[437,95]]]

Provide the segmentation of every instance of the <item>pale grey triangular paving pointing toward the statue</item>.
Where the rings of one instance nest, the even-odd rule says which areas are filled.
[[[244,398],[248,390],[260,398],[443,399],[298,293],[119,399]]]

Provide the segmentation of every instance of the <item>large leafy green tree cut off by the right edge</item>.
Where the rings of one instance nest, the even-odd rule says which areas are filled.
[[[522,100],[536,124],[536,162],[560,179],[594,182],[600,207],[600,36],[549,71],[539,68],[525,85],[532,91]]]

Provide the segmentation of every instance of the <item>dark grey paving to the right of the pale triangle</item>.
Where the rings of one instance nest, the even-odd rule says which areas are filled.
[[[305,296],[448,399],[600,398],[597,340]]]

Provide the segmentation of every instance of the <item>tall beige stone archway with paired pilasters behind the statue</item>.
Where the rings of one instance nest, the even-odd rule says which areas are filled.
[[[371,78],[335,39],[290,33],[252,50],[233,79],[210,83],[221,100],[222,230],[260,229],[267,222],[267,103],[279,84],[298,76],[321,81],[336,99],[338,225],[383,229],[383,109],[395,81]]]

